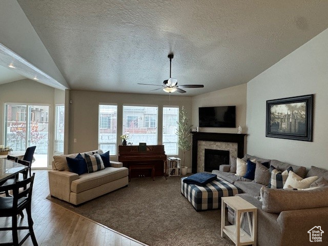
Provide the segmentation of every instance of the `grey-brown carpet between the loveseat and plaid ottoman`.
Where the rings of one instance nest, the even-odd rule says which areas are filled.
[[[220,210],[196,212],[180,178],[132,178],[129,186],[79,207],[52,202],[149,245],[234,245],[220,236]]]

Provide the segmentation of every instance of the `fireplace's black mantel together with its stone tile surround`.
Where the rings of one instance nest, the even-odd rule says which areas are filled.
[[[205,149],[228,150],[230,156],[242,158],[246,134],[192,132],[192,173],[204,171]]]

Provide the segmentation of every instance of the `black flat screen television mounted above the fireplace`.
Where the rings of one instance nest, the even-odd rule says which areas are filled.
[[[199,127],[236,127],[236,106],[201,107]]]

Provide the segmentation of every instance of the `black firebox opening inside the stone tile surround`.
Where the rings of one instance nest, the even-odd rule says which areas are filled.
[[[220,165],[229,165],[230,152],[228,150],[205,149],[204,171],[219,170]]]

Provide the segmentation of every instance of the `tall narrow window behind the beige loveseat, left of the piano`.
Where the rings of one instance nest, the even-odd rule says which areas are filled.
[[[98,149],[116,155],[117,106],[99,105]]]

